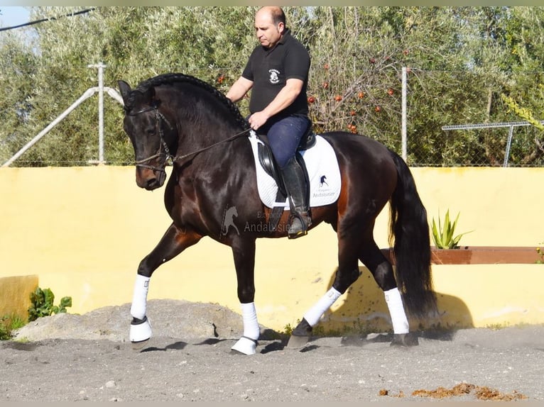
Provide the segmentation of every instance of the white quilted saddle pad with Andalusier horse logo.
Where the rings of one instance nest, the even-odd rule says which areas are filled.
[[[310,207],[329,205],[337,201],[341,186],[340,169],[332,146],[320,135],[316,135],[315,138],[315,145],[300,152],[304,158],[306,169],[308,169],[308,178],[310,179]],[[250,132],[249,141],[255,158],[257,186],[261,201],[268,208],[283,206],[288,209],[289,202],[287,199],[284,202],[276,202],[278,185],[273,177],[266,173],[259,162],[258,145],[259,143],[263,144],[263,142],[257,138],[253,130]]]

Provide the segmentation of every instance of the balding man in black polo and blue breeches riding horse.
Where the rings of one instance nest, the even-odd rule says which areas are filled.
[[[233,102],[250,89],[249,124],[266,135],[289,194],[288,238],[308,233],[312,223],[303,167],[295,152],[311,126],[306,87],[310,55],[285,26],[279,7],[263,7],[255,15],[255,33],[261,45],[249,57],[241,77],[227,92]]]

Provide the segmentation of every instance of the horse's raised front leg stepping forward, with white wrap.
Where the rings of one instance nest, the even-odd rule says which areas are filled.
[[[129,338],[134,348],[142,347],[151,338],[151,324],[146,316],[147,294],[151,274],[163,263],[172,260],[185,248],[194,245],[202,238],[190,230],[180,230],[173,223],[166,230],[161,241],[138,266],[131,305],[131,329]]]

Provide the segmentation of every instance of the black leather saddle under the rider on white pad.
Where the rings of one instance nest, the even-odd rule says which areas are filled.
[[[259,133],[257,134],[257,138],[259,138],[259,140],[263,142],[259,143],[258,147],[259,163],[261,164],[261,167],[263,167],[264,171],[268,175],[270,175],[278,185],[276,202],[285,201],[288,196],[287,189],[285,188],[285,184],[283,183],[283,177],[281,177],[281,173],[278,169],[276,160],[274,160],[272,149],[270,147],[270,144],[268,143],[268,138],[265,134]],[[300,143],[298,144],[297,150],[295,152],[295,159],[298,161],[300,167],[303,168],[305,174],[307,194],[310,194],[310,182],[308,179],[308,170],[306,169],[303,156],[300,155],[300,151],[308,150],[310,147],[313,147],[315,145],[315,141],[315,133],[312,129],[312,126],[310,125],[308,126],[308,130],[306,130],[303,137],[300,138]],[[281,206],[275,206],[274,208],[272,208],[272,213],[268,221],[268,230],[276,230],[276,226],[278,225],[282,213],[283,208]]]

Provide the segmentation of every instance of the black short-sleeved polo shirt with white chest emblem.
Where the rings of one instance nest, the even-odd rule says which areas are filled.
[[[300,114],[308,116],[308,72],[310,55],[308,50],[290,30],[285,30],[281,40],[272,49],[262,45],[256,47],[242,72],[242,77],[253,82],[249,111],[255,113],[268,106],[279,91],[285,87],[287,79],[295,78],[304,82],[303,89],[290,106],[277,116]]]

